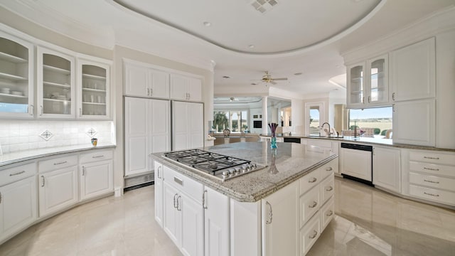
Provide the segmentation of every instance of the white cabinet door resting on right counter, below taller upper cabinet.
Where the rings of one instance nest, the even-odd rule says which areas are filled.
[[[435,116],[434,99],[395,102],[392,112],[393,142],[435,146]]]

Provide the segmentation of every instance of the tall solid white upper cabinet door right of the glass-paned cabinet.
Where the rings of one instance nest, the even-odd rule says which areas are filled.
[[[392,100],[431,98],[436,92],[435,38],[393,50],[390,53]],[[395,119],[394,119],[395,135]]]

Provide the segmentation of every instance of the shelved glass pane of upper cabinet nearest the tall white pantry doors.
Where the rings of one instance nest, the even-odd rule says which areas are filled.
[[[106,69],[82,65],[82,114],[106,115]]]

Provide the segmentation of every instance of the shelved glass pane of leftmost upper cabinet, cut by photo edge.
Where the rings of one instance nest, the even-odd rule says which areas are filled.
[[[0,112],[28,112],[28,48],[0,37]]]

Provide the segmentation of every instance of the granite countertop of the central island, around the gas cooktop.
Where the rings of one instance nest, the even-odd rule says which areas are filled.
[[[279,188],[298,180],[309,171],[326,164],[337,155],[319,151],[314,147],[296,143],[277,143],[277,149],[270,149],[267,142],[240,142],[201,148],[218,154],[247,159],[257,164],[267,165],[265,169],[254,171],[227,181],[191,169],[168,160],[163,153],[150,154],[151,158],[186,176],[190,176],[205,186],[219,191],[240,202],[256,202],[269,196]]]

